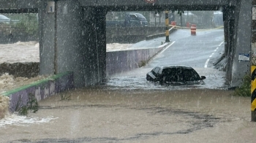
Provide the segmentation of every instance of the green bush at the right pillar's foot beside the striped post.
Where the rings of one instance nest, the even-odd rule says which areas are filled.
[[[251,96],[251,76],[246,75],[241,87],[235,89],[234,96]]]

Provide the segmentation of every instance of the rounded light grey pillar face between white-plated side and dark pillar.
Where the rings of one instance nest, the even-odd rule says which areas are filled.
[[[75,86],[83,87],[86,74],[83,8],[78,0],[56,3],[56,74],[73,71]]]

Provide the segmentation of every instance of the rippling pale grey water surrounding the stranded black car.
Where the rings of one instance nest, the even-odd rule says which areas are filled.
[[[194,88],[207,89],[223,89],[227,90],[230,86],[225,78],[225,71],[219,71],[212,68],[195,68],[198,74],[206,76],[206,80],[198,84],[190,85],[160,85],[159,82],[151,82],[146,80],[146,73],[152,68],[142,67],[132,71],[126,71],[108,77],[102,83],[102,87],[116,90],[185,90]]]

